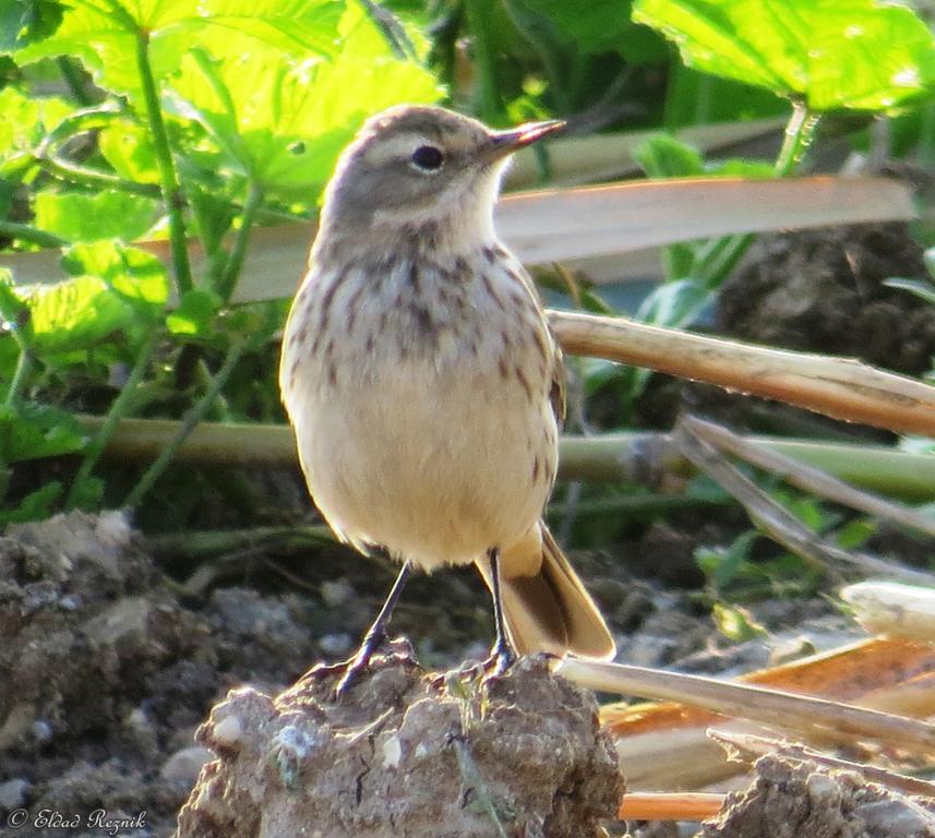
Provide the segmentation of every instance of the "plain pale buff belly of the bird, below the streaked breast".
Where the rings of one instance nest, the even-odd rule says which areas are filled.
[[[422,362],[311,375],[290,412],[319,508],[347,540],[431,570],[519,540],[542,514],[556,428],[515,382]]]

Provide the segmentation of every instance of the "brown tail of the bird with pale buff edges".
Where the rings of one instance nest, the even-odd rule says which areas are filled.
[[[478,561],[478,567],[491,587],[490,562]],[[500,588],[506,633],[520,655],[614,656],[616,647],[600,611],[546,522],[502,552]]]

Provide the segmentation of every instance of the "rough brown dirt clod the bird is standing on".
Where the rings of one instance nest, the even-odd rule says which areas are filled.
[[[180,838],[571,838],[616,811],[597,704],[543,659],[432,678],[404,649],[334,699],[338,678],[310,674],[275,698],[236,690],[214,708],[199,741],[217,758]]]

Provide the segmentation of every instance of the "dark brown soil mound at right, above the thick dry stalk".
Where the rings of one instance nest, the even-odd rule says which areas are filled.
[[[904,224],[765,236],[721,288],[718,332],[920,375],[935,356],[935,308],[885,286],[891,277],[928,277]]]

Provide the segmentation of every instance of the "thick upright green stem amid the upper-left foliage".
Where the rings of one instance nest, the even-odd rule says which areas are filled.
[[[176,289],[181,296],[192,288],[192,270],[189,264],[189,251],[185,242],[185,222],[182,208],[185,204],[184,193],[179,183],[172,149],[169,147],[169,135],[159,109],[159,96],[156,91],[156,80],[149,63],[149,33],[136,29],[136,69],[143,87],[143,99],[146,104],[146,118],[153,135],[153,148],[159,167],[159,180],[163,200],[169,214],[169,240],[172,251],[172,270],[176,276]]]

